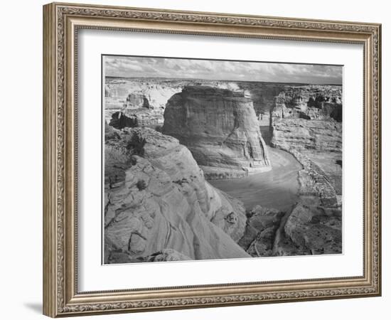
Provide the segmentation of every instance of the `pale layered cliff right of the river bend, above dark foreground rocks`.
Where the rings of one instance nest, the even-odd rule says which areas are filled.
[[[299,180],[305,188],[327,182],[319,187],[325,203],[337,198],[341,204],[342,102],[341,85],[286,86],[272,112],[272,145],[301,162]]]

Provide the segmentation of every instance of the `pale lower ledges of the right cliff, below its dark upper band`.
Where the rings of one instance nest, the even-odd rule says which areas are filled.
[[[304,166],[299,180],[306,193],[317,190],[322,198],[336,198],[341,202],[341,122],[294,117],[274,119],[271,143],[289,151]]]

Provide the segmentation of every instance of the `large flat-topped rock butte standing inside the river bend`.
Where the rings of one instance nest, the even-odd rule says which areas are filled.
[[[184,87],[167,102],[162,132],[186,145],[208,178],[247,176],[270,166],[252,100],[242,91]]]

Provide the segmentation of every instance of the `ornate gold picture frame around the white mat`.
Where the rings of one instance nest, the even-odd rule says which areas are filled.
[[[77,36],[82,29],[362,45],[363,274],[80,292],[77,278]],[[381,26],[377,23],[82,4],[43,6],[43,314],[77,316],[379,296],[380,63]]]

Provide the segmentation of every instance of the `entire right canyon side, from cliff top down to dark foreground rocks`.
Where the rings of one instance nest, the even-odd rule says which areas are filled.
[[[272,146],[303,166],[298,199],[285,212],[250,210],[238,243],[253,257],[341,253],[341,87],[286,86],[271,116]]]

